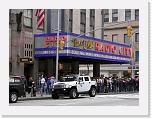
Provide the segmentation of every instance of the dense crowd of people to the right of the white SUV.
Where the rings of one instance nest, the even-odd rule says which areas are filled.
[[[97,92],[129,92],[139,91],[139,77],[136,78],[118,78],[118,77],[96,77]]]

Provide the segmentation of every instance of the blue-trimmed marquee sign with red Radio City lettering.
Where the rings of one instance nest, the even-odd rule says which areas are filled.
[[[56,56],[57,34],[35,35],[35,56]],[[60,33],[59,56],[75,56],[110,61],[131,60],[131,46],[106,40],[80,36],[74,33]]]

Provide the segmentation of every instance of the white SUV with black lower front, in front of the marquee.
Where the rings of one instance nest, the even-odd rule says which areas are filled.
[[[60,95],[77,98],[79,94],[96,95],[96,81],[85,75],[66,75],[52,87],[52,98],[58,99]]]

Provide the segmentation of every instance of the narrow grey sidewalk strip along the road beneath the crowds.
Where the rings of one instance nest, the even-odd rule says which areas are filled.
[[[130,92],[109,92],[109,93],[97,93],[97,95],[115,95],[115,94],[132,94],[132,93],[139,93],[138,91],[130,91]],[[83,94],[82,94],[83,95]],[[86,94],[84,94],[86,95]],[[31,94],[26,94],[26,97],[20,97],[18,100],[19,101],[24,101],[24,100],[44,100],[44,99],[52,99],[52,95],[50,94],[44,94],[41,96],[39,92],[36,93],[35,97],[31,97]]]

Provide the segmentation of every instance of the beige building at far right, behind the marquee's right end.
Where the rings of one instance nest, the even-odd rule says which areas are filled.
[[[104,10],[104,39],[112,42],[131,44],[133,48],[133,62],[123,65],[101,65],[101,72],[126,76],[139,75],[139,10],[138,9],[109,9]],[[127,36],[127,26],[132,26],[132,37]]]

